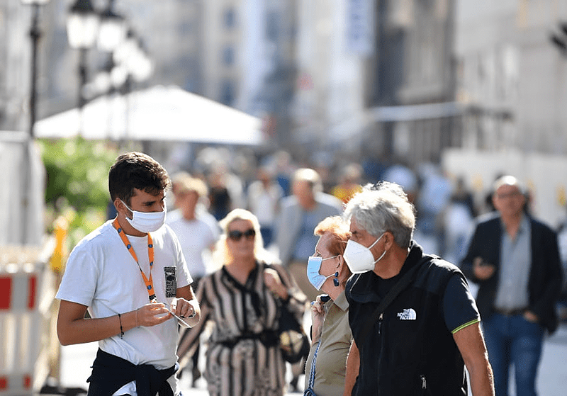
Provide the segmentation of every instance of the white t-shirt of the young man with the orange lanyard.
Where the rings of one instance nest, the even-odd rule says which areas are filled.
[[[174,232],[164,225],[151,235],[155,255],[152,268],[155,294],[158,302],[170,304],[174,296],[166,297],[164,267],[176,268],[176,288],[191,284],[193,279]],[[149,278],[147,236],[128,236],[128,239],[140,267]],[[93,318],[136,310],[150,302],[140,267],[124,246],[112,220],[109,220],[73,249],[56,298],[86,305]],[[151,364],[163,370],[174,366],[177,361],[177,340],[176,320],[169,319],[156,326],[130,329],[122,339],[120,334],[103,339],[99,341],[99,347],[135,365]],[[171,381],[175,378],[170,378]],[[178,393],[175,387],[172,389]]]

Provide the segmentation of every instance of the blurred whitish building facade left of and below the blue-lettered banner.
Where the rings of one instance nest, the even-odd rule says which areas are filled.
[[[364,128],[364,55],[349,45],[347,0],[298,2],[296,141],[344,143]]]

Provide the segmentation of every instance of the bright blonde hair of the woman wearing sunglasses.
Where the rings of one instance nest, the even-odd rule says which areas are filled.
[[[220,239],[218,239],[215,251],[213,252],[213,259],[215,263],[221,266],[232,261],[232,254],[230,254],[230,249],[228,248],[226,239],[228,227],[235,220],[246,220],[252,223],[252,227],[256,232],[254,237],[254,257],[258,261],[264,261],[269,264],[274,263],[276,258],[270,254],[269,251],[264,249],[264,241],[262,240],[262,234],[260,234],[260,223],[258,221],[258,217],[256,217],[252,212],[249,212],[249,210],[240,208],[231,210],[230,213],[223,218],[223,220],[218,222],[220,228],[223,230],[223,234],[220,235]]]

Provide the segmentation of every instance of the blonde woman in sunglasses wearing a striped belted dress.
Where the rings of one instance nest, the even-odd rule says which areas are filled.
[[[201,322],[186,330],[179,344],[183,367],[208,323],[213,323],[206,371],[210,395],[283,395],[286,390],[278,338],[279,310],[286,304],[296,316],[305,295],[285,268],[262,247],[260,226],[252,213],[232,210],[220,225],[215,251],[222,268],[205,276],[197,290]]]

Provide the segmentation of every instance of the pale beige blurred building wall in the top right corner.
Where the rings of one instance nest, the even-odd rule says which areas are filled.
[[[567,152],[567,57],[550,33],[565,1],[459,0],[458,98],[464,147]]]

